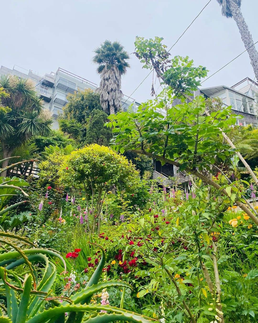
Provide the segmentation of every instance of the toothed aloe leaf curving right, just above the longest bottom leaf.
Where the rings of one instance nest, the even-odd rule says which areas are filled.
[[[74,294],[70,298],[74,304],[78,304],[87,298],[91,298],[92,295],[97,293],[98,291],[100,291],[104,288],[107,288],[107,287],[112,287],[112,286],[132,288],[132,286],[129,285],[128,283],[124,283],[124,282],[121,282],[118,280],[109,280],[109,281],[105,281],[102,283],[98,283],[97,285],[92,285],[91,287],[85,287],[82,291]]]

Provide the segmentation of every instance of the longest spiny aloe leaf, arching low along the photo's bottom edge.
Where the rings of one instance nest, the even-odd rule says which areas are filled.
[[[54,317],[57,317],[65,312],[99,312],[99,311],[110,311],[115,314],[124,314],[126,315],[126,319],[120,318],[122,321],[128,322],[142,322],[142,323],[149,323],[153,322],[154,320],[151,318],[147,318],[146,316],[142,316],[140,314],[136,314],[133,312],[126,311],[124,309],[120,309],[117,307],[112,307],[108,305],[94,305],[94,304],[83,304],[83,305],[65,305],[55,308],[50,308],[45,310],[33,318],[27,320],[26,323],[45,323],[51,320]],[[101,314],[98,314],[101,316]],[[105,322],[105,321],[102,321]]]

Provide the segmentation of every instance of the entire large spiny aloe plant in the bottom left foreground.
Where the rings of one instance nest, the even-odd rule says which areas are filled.
[[[0,323],[69,323],[69,322],[142,322],[153,321],[142,315],[126,311],[117,307],[90,304],[93,295],[104,288],[119,286],[131,287],[121,281],[104,281],[99,283],[102,269],[105,264],[105,253],[101,246],[102,258],[94,274],[90,278],[86,287],[75,295],[68,297],[55,297],[52,294],[52,285],[56,277],[56,268],[49,257],[58,257],[64,264],[62,256],[49,249],[36,248],[24,237],[0,232],[0,244],[3,247],[0,253],[0,283],[2,288],[0,293],[4,294],[1,303]],[[19,246],[18,246],[19,244]],[[25,248],[30,246],[31,248]],[[8,248],[12,250],[7,251]],[[34,267],[34,263],[45,263],[44,273],[40,279]],[[18,266],[27,265],[29,271],[25,274],[18,274],[15,271]],[[65,268],[66,269],[66,268]],[[63,300],[60,303],[60,300]],[[106,311],[101,313],[100,311]],[[65,313],[69,313],[65,316]],[[84,314],[86,313],[86,318]]]

